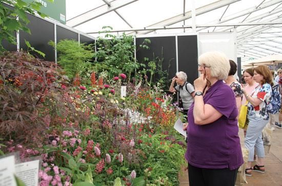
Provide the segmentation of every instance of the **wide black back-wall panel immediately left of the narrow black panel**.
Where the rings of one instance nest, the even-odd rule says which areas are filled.
[[[140,49],[138,46],[143,43],[144,39],[150,39],[150,49]],[[163,70],[167,70],[168,78],[172,79],[176,73],[176,44],[175,36],[164,37],[143,37],[136,38],[136,59],[138,62],[144,62],[144,58],[149,58],[149,61],[156,59],[156,63],[163,58]],[[148,62],[145,62],[146,65]],[[148,65],[147,65],[148,68]],[[155,75],[154,81],[157,81],[159,75]],[[170,83],[170,82],[169,82]]]

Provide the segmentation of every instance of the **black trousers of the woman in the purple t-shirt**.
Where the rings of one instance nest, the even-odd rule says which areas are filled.
[[[190,186],[234,186],[238,169],[204,169],[188,165]]]

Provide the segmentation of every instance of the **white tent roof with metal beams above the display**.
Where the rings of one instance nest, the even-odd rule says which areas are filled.
[[[193,4],[196,32],[235,28],[242,64],[282,54],[282,0],[67,0],[67,25],[95,37],[103,26],[114,34],[189,33]]]

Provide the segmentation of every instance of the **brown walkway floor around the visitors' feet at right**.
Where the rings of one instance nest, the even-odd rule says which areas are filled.
[[[244,145],[243,130],[239,136],[241,145]],[[243,186],[282,186],[282,129],[276,128],[272,133],[271,147],[269,154],[265,158],[266,172],[252,172],[252,176],[247,176],[247,182]],[[182,171],[179,175],[180,186],[189,186],[188,172]]]

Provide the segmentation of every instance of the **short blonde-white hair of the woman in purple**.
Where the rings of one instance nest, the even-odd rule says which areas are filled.
[[[198,63],[210,66],[211,76],[218,80],[225,80],[228,77],[230,63],[224,53],[206,52],[200,55]]]

